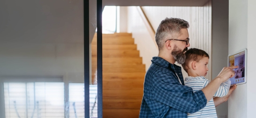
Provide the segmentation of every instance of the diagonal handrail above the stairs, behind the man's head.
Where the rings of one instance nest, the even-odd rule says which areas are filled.
[[[142,8],[141,6],[138,6],[138,7],[136,7],[136,8],[137,8],[137,10],[138,10],[138,12],[139,12],[139,14],[140,14],[140,16],[141,16],[141,18],[142,18],[142,20],[143,20],[145,26],[147,27],[147,29],[148,29],[148,31],[149,31],[149,33],[150,33],[150,36],[152,37],[152,40],[153,40],[155,46],[156,46],[157,49],[158,49],[158,45],[157,45],[157,43],[156,43],[156,41],[155,41],[155,34],[156,34],[156,32],[155,32],[155,30],[153,29],[153,27],[152,27],[152,25],[151,25],[151,22],[149,21],[147,15],[145,14],[145,12],[143,11],[143,8]]]

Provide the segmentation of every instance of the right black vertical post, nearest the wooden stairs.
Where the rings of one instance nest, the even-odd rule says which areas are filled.
[[[97,0],[97,73],[98,118],[102,118],[102,0]]]

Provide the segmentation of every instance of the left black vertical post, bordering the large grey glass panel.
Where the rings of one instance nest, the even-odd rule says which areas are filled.
[[[83,50],[84,50],[84,118],[90,118],[90,37],[89,0],[83,0]]]

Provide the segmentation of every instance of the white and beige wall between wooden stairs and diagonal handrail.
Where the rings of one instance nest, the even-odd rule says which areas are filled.
[[[137,50],[140,51],[140,57],[143,64],[146,65],[146,71],[151,65],[152,57],[158,56],[158,48],[155,46],[151,35],[149,34],[136,7],[128,7],[128,32],[132,33],[137,44]]]

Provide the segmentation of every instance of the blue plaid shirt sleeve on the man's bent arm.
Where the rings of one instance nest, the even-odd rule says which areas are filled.
[[[194,113],[205,107],[207,99],[202,90],[181,85],[174,74],[156,73],[152,83],[154,99],[176,110]]]

